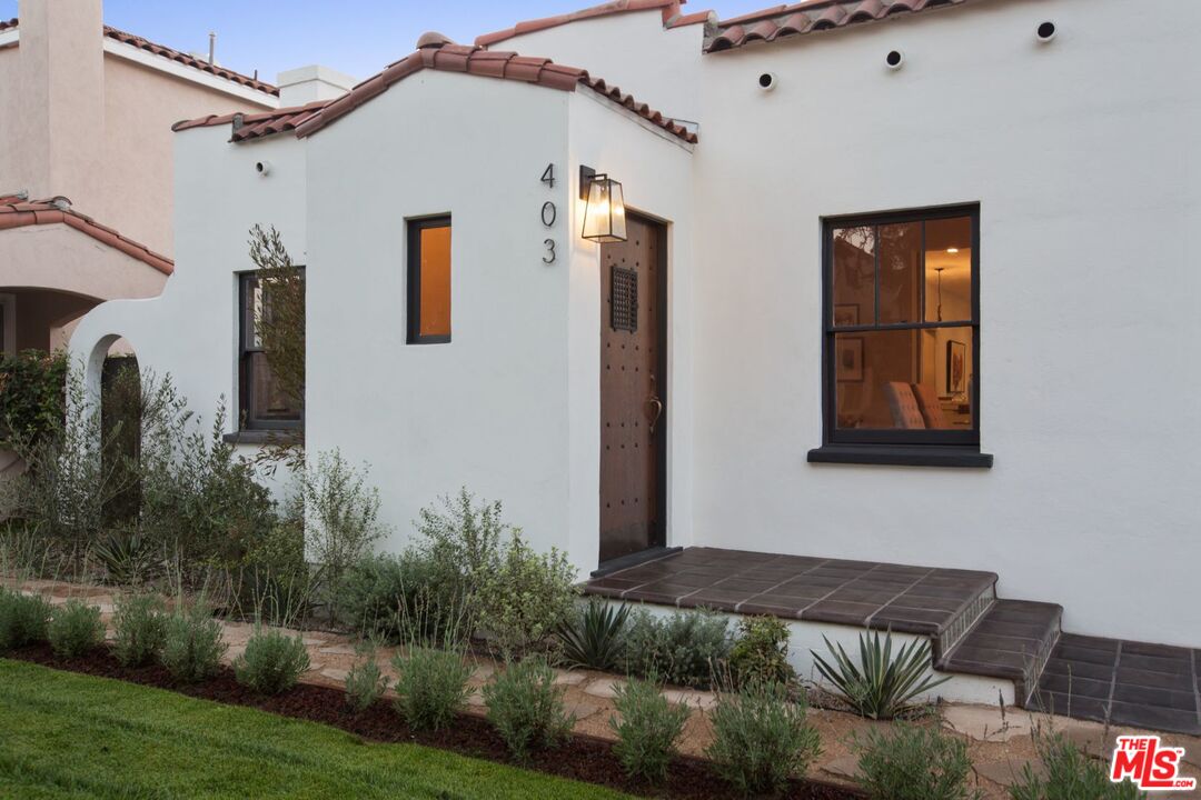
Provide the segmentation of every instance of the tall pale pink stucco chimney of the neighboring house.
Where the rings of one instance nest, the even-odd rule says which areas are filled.
[[[104,23],[101,0],[20,0],[19,186],[103,218]]]

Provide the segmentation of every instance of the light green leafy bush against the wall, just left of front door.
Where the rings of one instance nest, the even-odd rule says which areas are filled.
[[[482,576],[478,624],[507,658],[545,651],[568,619],[579,590],[575,567],[556,548],[536,553],[512,531],[495,567]]]

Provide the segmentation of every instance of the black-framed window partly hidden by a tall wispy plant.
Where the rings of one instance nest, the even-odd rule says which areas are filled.
[[[270,288],[256,272],[244,272],[239,281],[239,405],[241,429],[270,431],[298,428],[304,420],[304,398],[282,391],[271,377],[258,321],[270,313]]]

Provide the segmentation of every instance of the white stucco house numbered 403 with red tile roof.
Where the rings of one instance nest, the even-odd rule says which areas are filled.
[[[72,343],[240,398],[246,447],[303,419],[393,547],[467,486],[597,594],[931,634],[1018,703],[1095,648],[1201,729],[1199,43],[1179,0],[426,35],[178,125],[175,275]],[[256,223],[306,267],[303,410],[256,373]]]

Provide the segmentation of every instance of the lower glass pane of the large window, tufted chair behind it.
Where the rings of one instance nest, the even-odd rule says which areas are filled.
[[[839,428],[973,427],[970,327],[838,333],[832,357]]]

